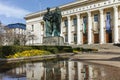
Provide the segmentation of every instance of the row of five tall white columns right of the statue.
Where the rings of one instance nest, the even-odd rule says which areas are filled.
[[[113,9],[113,28],[112,28],[112,35],[113,35],[113,41],[112,43],[118,43],[119,42],[119,28],[118,28],[118,6],[113,6],[111,7],[111,9]],[[104,18],[104,10],[103,8],[100,8],[98,11],[99,11],[99,44],[105,44],[105,18]],[[87,11],[85,13],[87,13],[87,27],[88,27],[88,33],[87,33],[87,39],[88,39],[88,44],[94,44],[94,42],[92,41],[93,40],[93,37],[92,37],[92,12],[93,11]],[[83,37],[82,37],[82,34],[83,32],[81,32],[83,30],[83,25],[81,25],[81,14],[84,14],[84,13],[77,13],[75,14],[76,18],[77,18],[77,45],[80,45],[80,44],[83,44]],[[67,20],[68,20],[68,43],[69,44],[72,44],[71,43],[71,16],[72,15],[68,15],[67,16]],[[62,29],[63,30],[63,29]],[[63,33],[61,33],[63,35]]]

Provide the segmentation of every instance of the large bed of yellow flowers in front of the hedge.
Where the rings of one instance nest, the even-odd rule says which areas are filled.
[[[49,55],[49,54],[51,53],[44,50],[27,50],[27,51],[15,53],[14,55],[9,55],[7,56],[7,58],[20,58],[20,57],[30,57],[30,56],[38,56],[38,55]]]

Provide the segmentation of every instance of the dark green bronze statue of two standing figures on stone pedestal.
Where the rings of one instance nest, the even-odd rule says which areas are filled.
[[[43,17],[46,26],[46,37],[60,36],[61,18],[61,10],[58,7],[53,13],[50,8],[47,8],[47,13]]]

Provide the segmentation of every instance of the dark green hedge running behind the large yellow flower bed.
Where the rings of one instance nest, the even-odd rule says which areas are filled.
[[[73,52],[73,49],[70,46],[0,46],[0,58],[5,58],[6,56],[13,55],[17,52],[32,49],[45,50],[52,54]]]

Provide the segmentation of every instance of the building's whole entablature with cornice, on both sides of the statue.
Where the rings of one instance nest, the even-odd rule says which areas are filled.
[[[89,3],[88,3],[89,2]],[[80,4],[81,3],[81,4]],[[84,5],[83,5],[84,3]],[[75,5],[75,6],[74,6]],[[120,0],[80,0],[73,3],[69,3],[63,6],[60,6],[62,10],[62,16],[73,15],[76,13],[84,13],[86,11],[97,10],[101,8],[108,8],[114,5],[120,5]],[[72,6],[72,7],[70,7]],[[55,8],[52,8],[51,11],[54,11]],[[26,20],[34,19],[37,17],[43,17],[46,13],[46,10],[29,14],[25,17]],[[42,19],[42,18],[41,18]]]

